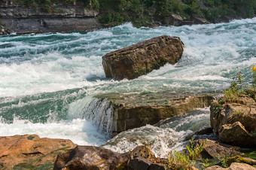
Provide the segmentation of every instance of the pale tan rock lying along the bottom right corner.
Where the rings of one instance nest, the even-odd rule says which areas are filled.
[[[205,170],[255,170],[251,165],[248,165],[246,163],[239,163],[239,162],[234,162],[230,165],[229,168],[222,168],[219,165],[211,166],[209,168],[206,168]]]

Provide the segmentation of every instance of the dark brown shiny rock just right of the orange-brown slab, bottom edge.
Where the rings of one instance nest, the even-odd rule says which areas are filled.
[[[59,153],[53,169],[114,169],[128,158],[128,153],[115,153],[103,147],[77,146]]]

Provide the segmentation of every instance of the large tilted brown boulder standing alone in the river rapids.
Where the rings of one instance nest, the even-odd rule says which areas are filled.
[[[184,44],[178,37],[166,35],[142,41],[102,56],[106,77],[134,79],[181,59]]]

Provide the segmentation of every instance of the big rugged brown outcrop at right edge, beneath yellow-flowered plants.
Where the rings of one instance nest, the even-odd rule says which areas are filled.
[[[221,141],[256,146],[256,102],[246,95],[233,102],[211,104],[211,126]]]

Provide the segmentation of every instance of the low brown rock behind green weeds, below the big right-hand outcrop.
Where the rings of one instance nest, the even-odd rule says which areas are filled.
[[[203,151],[200,153],[203,159],[214,159],[242,154],[239,152],[239,147],[233,147],[228,144],[218,144],[216,141],[209,139],[200,139],[197,141],[197,144],[204,144]]]

